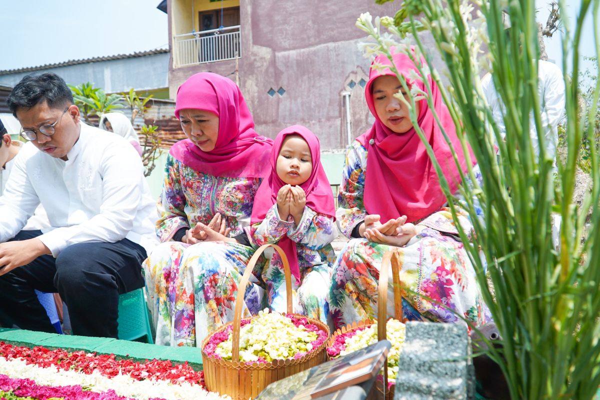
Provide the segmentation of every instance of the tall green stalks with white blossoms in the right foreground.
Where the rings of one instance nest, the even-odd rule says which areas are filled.
[[[563,15],[566,6],[565,0],[559,1]],[[424,80],[424,94],[409,92],[408,82],[395,70],[410,93],[405,101],[410,118],[440,176],[461,240],[502,335],[502,346],[490,344],[487,351],[502,369],[513,399],[592,399],[600,386],[600,234],[595,233],[600,222],[600,170],[596,146],[589,146],[592,190],[579,207],[572,200],[584,135],[593,137],[598,128],[598,82],[590,92],[590,104],[580,109],[578,49],[583,22],[593,17],[598,55],[599,6],[600,0],[583,0],[575,25],[561,21],[565,31],[563,70],[572,70],[572,79],[565,79],[567,151],[564,164],[559,163],[556,186],[554,159],[545,151],[538,98],[539,28],[534,0],[404,0],[395,18],[377,18],[373,23],[369,14],[362,14],[357,22],[371,38],[364,45],[367,55],[384,54],[392,59],[391,47],[395,46],[396,51],[413,57],[420,76],[431,73],[457,127],[463,151],[470,145],[478,161],[483,184],[460,189],[467,199],[461,206],[466,207],[475,226],[476,234],[469,239],[456,218],[458,204],[449,193],[440,160],[434,160],[418,127],[415,97],[424,95],[433,109],[431,88]],[[508,32],[505,17],[511,22]],[[433,65],[431,49],[422,43],[420,30],[433,38],[448,87]],[[416,55],[408,50],[410,44],[416,46]],[[491,72],[506,105],[504,122],[511,129],[505,140],[481,89],[482,70]],[[533,139],[530,114],[537,132]],[[533,140],[538,142],[539,154],[533,151]],[[467,173],[476,182],[472,168]],[[481,205],[483,219],[478,218],[472,199]],[[551,239],[556,215],[562,219],[559,249]],[[584,229],[586,222],[589,230]],[[584,236],[586,231],[589,237]]]

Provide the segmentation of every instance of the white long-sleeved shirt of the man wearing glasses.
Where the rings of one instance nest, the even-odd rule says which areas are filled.
[[[54,257],[76,243],[124,238],[149,252],[157,243],[157,213],[139,155],[116,134],[80,126],[67,161],[33,143],[14,158],[0,197],[0,243],[19,233],[41,203],[50,227],[38,239]]]

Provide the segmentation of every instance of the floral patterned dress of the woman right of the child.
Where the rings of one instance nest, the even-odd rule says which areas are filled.
[[[367,150],[355,141],[346,156],[338,196],[338,225],[347,237],[352,237],[353,229],[367,215],[363,202],[366,166]],[[474,168],[476,178],[481,180],[478,167]],[[478,213],[481,215],[480,209]],[[458,217],[461,226],[467,232],[472,231],[469,214],[462,210]],[[442,207],[418,223],[425,228],[403,247],[367,239],[352,239],[347,243],[335,261],[328,296],[336,328],[377,318],[379,269],[383,254],[390,250],[400,255],[404,317],[457,323],[462,321],[460,315],[476,326],[491,320],[449,208]],[[389,300],[392,296],[392,279],[389,279],[388,316],[393,315],[393,301]]]

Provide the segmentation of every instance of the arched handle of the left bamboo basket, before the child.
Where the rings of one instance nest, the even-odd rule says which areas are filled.
[[[244,270],[244,275],[242,276],[242,281],[239,282],[238,286],[238,295],[235,298],[235,308],[233,309],[233,336],[232,336],[232,349],[231,349],[231,359],[232,361],[239,362],[239,329],[240,324],[242,322],[242,305],[244,303],[244,294],[246,292],[246,286],[248,285],[248,281],[250,281],[250,275],[252,275],[252,271],[254,270],[254,266],[256,266],[256,261],[258,261],[259,257],[263,254],[263,252],[272,247],[275,251],[278,252],[279,257],[281,257],[281,261],[283,262],[283,273],[286,277],[286,300],[287,300],[287,314],[292,314],[292,273],[290,272],[290,263],[287,261],[286,253],[283,252],[280,246],[268,243],[266,245],[260,246],[256,252],[248,261],[248,265]]]

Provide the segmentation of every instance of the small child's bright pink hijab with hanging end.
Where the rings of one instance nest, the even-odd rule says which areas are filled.
[[[298,134],[308,143],[310,155],[313,160],[313,171],[304,184],[300,185],[304,193],[306,193],[306,205],[313,211],[325,214],[335,218],[334,195],[331,191],[331,185],[325,175],[325,170],[321,165],[321,152],[319,139],[314,136],[310,130],[302,125],[292,125],[285,128],[275,137],[275,143],[271,151],[271,175],[260,184],[259,190],[254,197],[254,207],[250,224],[256,224],[265,219],[266,213],[277,203],[277,193],[286,185],[286,182],[281,181],[277,175],[277,157],[281,151],[281,145],[286,136]],[[296,243],[287,236],[282,237],[277,243],[281,246],[287,255],[287,260],[290,263],[290,270],[295,276],[296,282],[300,282],[300,268],[298,266],[298,253],[296,252]]]

